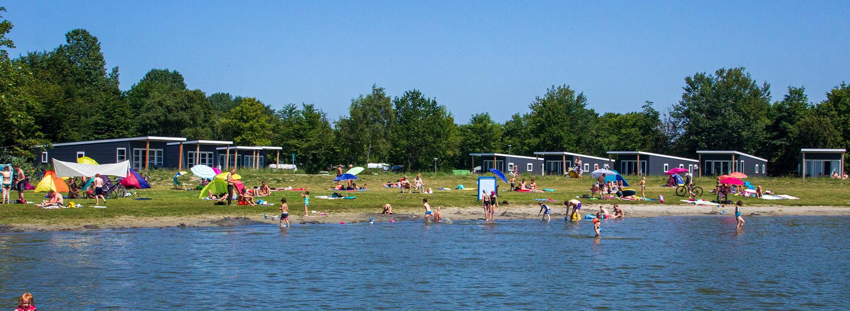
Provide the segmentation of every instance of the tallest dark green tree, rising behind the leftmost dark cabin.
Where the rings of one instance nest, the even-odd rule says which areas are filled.
[[[118,88],[118,67],[106,70],[98,38],[75,29],[65,34],[65,42],[52,52],[21,59],[36,77],[43,132],[54,142],[133,135],[133,116]]]

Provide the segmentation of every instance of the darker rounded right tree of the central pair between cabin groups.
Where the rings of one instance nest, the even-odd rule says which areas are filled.
[[[433,158],[449,169],[457,161],[460,135],[455,119],[445,106],[437,104],[418,90],[405,92],[393,99],[395,123],[392,128],[395,146],[390,151],[394,163],[406,170],[433,169]],[[439,165],[439,164],[438,164]]]

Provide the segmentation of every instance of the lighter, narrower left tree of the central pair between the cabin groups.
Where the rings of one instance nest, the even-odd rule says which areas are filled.
[[[348,117],[337,122],[337,141],[344,159],[354,163],[387,161],[392,148],[389,128],[395,110],[387,92],[372,85],[371,93],[351,100]]]

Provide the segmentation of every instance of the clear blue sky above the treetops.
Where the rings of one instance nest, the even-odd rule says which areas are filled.
[[[17,48],[51,50],[84,28],[121,88],[152,68],[190,88],[313,103],[331,118],[371,85],[417,88],[467,122],[528,111],[569,84],[599,112],[664,109],[695,72],[745,66],[773,99],[813,101],[850,80],[850,2],[10,1]]]

